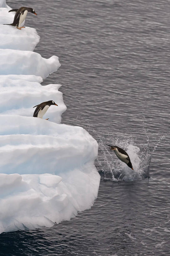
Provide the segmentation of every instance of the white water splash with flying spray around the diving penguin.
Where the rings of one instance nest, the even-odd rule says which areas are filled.
[[[143,110],[144,112],[144,110]],[[152,133],[149,133],[147,128],[147,120],[143,114],[143,134],[146,140],[136,145],[134,138],[126,134],[122,138],[122,134],[115,134],[113,138],[113,131],[107,131],[107,134],[101,134],[95,130],[94,126],[88,120],[77,117],[75,120],[77,125],[84,127],[99,144],[98,158],[95,161],[96,168],[100,173],[101,179],[104,181],[135,181],[144,178],[150,178],[149,170],[153,152],[158,148],[160,142],[166,138],[166,135],[159,135],[156,144],[150,140]],[[107,144],[117,145],[123,148],[130,157],[134,170],[130,169],[125,163],[120,161],[113,151],[109,150]],[[152,146],[151,146],[152,145]]]

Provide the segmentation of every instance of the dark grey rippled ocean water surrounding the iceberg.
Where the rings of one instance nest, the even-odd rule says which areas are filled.
[[[170,255],[170,1],[7,4],[38,13],[25,23],[41,37],[35,51],[61,63],[43,85],[62,84],[62,123],[99,143],[102,180],[90,210],[52,228],[2,233],[0,255]],[[128,150],[134,172],[106,143]]]

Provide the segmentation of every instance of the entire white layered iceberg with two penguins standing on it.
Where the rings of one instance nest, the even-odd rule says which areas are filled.
[[[41,86],[60,67],[58,57],[33,52],[40,40],[34,28],[2,25],[13,21],[9,9],[0,0],[0,233],[70,220],[91,208],[100,184],[97,142],[61,124],[61,85]],[[33,106],[47,100],[58,107],[34,118]]]

